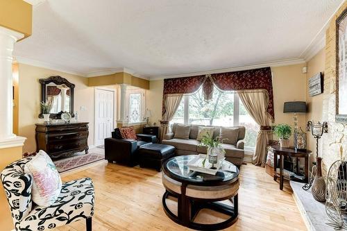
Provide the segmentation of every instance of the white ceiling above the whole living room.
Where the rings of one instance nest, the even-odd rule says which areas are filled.
[[[46,0],[19,62],[92,76],[187,74],[298,62],[344,0]]]

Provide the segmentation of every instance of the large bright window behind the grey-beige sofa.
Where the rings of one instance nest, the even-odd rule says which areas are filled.
[[[245,126],[245,147],[255,148],[259,126],[248,114],[238,94],[221,92],[214,87],[210,101],[205,101],[202,88],[184,96],[171,123],[201,124],[205,126]]]

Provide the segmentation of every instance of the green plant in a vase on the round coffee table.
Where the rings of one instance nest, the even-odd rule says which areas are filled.
[[[223,140],[224,139],[220,140],[219,137],[213,139],[212,135],[210,135],[209,132],[207,135],[203,135],[203,138],[201,139],[201,143],[199,145],[208,147],[206,158],[205,160],[203,160],[203,166],[205,166],[206,159],[209,160],[213,168],[213,164],[216,164],[216,162],[212,160],[215,160],[217,158],[218,162],[219,160],[224,158],[226,151],[224,151],[224,148],[221,147]]]

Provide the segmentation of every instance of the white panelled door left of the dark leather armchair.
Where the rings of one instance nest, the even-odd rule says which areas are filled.
[[[95,146],[103,145],[113,130],[115,92],[95,89]]]

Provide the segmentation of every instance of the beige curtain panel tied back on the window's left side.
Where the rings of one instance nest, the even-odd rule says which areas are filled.
[[[160,121],[160,141],[162,141],[162,137],[169,132],[169,121],[174,117],[182,98],[183,94],[164,97],[164,114],[162,114],[162,120]]]

